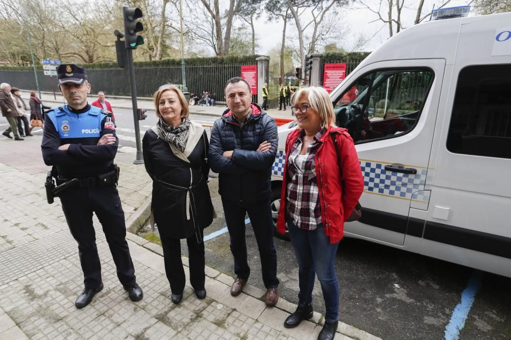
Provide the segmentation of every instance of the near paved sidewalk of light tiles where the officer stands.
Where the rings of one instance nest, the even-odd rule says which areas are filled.
[[[94,218],[105,289],[92,303],[76,309],[83,289],[78,249],[66,225],[59,199],[48,204],[43,181],[48,167],[40,151],[41,136],[24,142],[0,139],[0,339],[314,339],[323,317],[285,329],[296,305],[279,299],[267,307],[263,287],[247,285],[233,298],[233,278],[206,267],[207,298],[199,300],[187,285],[183,301],[174,305],[160,246],[128,232],[137,282],[144,299],[131,302],[115,275],[115,266],[97,218]],[[119,192],[127,227],[147,222],[151,180],[133,155],[118,153]],[[188,265],[188,259],[183,257]],[[188,268],[186,270],[187,276]],[[187,279],[187,283],[189,279]],[[189,283],[188,283],[189,284]],[[336,339],[375,339],[339,323]]]

